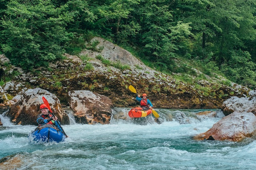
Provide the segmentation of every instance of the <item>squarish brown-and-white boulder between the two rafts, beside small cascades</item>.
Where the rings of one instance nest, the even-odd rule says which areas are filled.
[[[68,98],[76,123],[108,124],[110,122],[114,108],[110,98],[89,90],[70,91]]]

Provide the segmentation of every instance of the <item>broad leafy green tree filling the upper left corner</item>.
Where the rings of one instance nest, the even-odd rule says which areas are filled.
[[[65,29],[72,20],[68,6],[50,0],[10,0],[1,20],[1,47],[12,63],[23,68],[46,65],[62,57],[73,36]]]

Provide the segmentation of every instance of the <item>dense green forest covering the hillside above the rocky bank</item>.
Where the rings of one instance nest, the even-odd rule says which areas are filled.
[[[163,72],[256,87],[255,0],[0,0],[1,52],[25,69],[78,54],[100,36]],[[192,73],[191,73],[192,74]]]

